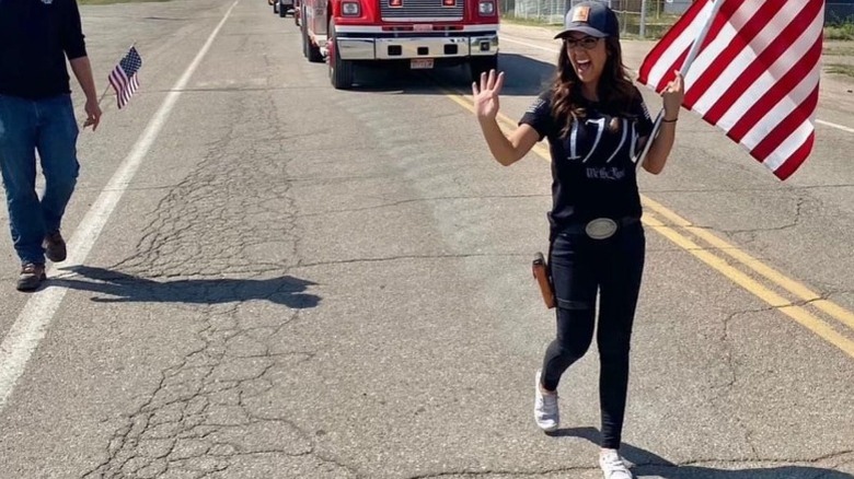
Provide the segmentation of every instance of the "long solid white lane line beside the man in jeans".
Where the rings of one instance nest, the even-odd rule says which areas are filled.
[[[127,186],[130,184],[137,170],[139,170],[142,160],[169,119],[175,103],[181,97],[182,90],[187,85],[189,78],[199,63],[201,63],[203,58],[205,58],[205,55],[210,49],[210,45],[214,43],[214,38],[217,37],[222,25],[231,16],[231,11],[234,10],[238,2],[240,0],[234,0],[234,3],[226,12],[226,16],[214,28],[208,40],[196,55],[196,58],[193,59],[193,62],[184,70],[184,74],[172,86],[163,104],[160,105],[160,108],[151,117],[145,131],[142,131],[142,135],[134,144],[134,148],[130,149],[130,153],[122,162],[109,183],[101,191],[95,203],[80,222],[69,242],[68,264],[80,265],[85,260],[97,236],[104,229],[104,224],[106,224],[113,210],[115,210],[118,200],[122,199]],[[48,273],[53,274],[54,272],[55,267],[51,266]],[[0,409],[5,406],[5,401],[12,394],[18,378],[24,373],[30,357],[38,347],[42,338],[45,337],[47,328],[54,319],[54,315],[67,291],[67,288],[48,285],[44,291],[35,293],[26,302],[9,334],[3,338],[3,342],[0,344]]]

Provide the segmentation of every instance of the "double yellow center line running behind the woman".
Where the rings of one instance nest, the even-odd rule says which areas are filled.
[[[454,103],[474,113],[474,106],[468,96],[451,91],[447,91],[447,90],[445,91],[445,94]],[[510,119],[509,117],[507,117],[501,113],[498,114],[497,119],[499,121],[499,125],[504,125],[505,127],[508,128],[516,128],[516,121],[513,121],[512,119]],[[542,159],[550,161],[551,155],[549,153],[549,150],[542,143],[536,143],[536,145],[534,145],[533,148],[533,151]],[[813,292],[805,284],[786,277],[785,274],[775,270],[774,268],[753,258],[752,256],[739,249],[731,243],[715,235],[711,231],[694,226],[690,221],[683,219],[679,214],[663,207],[661,203],[646,197],[645,195],[641,195],[641,199],[647,209],[651,210],[653,212],[668,220],[670,223],[672,223],[672,226],[677,226],[690,232],[694,236],[708,243],[714,248],[714,250],[719,250],[726,254],[730,258],[735,259],[738,264],[764,277],[765,279],[770,280],[774,284],[794,294],[799,300],[808,302],[810,305],[817,307],[818,309],[822,311],[823,313],[839,320],[841,324],[850,327],[851,329],[854,329],[854,313],[851,313],[850,311],[845,309],[844,307],[831,301],[822,299],[818,293]],[[812,332],[820,336],[831,344],[838,347],[839,349],[841,349],[842,351],[846,352],[849,355],[854,358],[854,341],[836,332],[836,330],[834,330],[833,327],[828,325],[822,319],[810,314],[803,306],[793,304],[790,301],[786,300],[785,297],[781,296],[780,294],[764,287],[759,281],[752,279],[745,272],[735,268],[725,259],[713,254],[712,253],[713,249],[702,247],[701,245],[694,243],[693,241],[691,241],[691,238],[677,232],[670,225],[666,225],[654,215],[647,213],[644,215],[643,221],[644,224],[649,225],[656,232],[661,234],[663,237],[671,241],[682,249],[694,255],[697,259],[711,266],[713,269],[717,270],[718,272],[720,272],[722,274],[730,279],[736,284],[740,285],[748,292],[754,294],[760,300],[770,304],[781,313],[795,319],[797,323],[799,323],[807,329],[811,330]]]

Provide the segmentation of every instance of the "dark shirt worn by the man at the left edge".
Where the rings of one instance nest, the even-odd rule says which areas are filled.
[[[0,95],[70,93],[66,57],[85,57],[76,0],[0,0]]]

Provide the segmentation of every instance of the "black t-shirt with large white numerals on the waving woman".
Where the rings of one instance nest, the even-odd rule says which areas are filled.
[[[653,120],[641,92],[635,89],[625,113],[585,102],[585,116],[572,122],[561,138],[565,121],[552,116],[552,91],[542,93],[519,124],[530,125],[549,138],[552,153],[552,227],[586,223],[596,218],[641,218],[636,161],[643,141],[653,131]],[[612,120],[619,126],[612,130]]]

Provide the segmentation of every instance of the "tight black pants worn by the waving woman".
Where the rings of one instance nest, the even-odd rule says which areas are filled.
[[[593,339],[599,290],[599,401],[602,447],[620,447],[632,323],[644,271],[646,241],[641,223],[608,240],[562,233],[552,242],[550,264],[557,296],[557,337],[543,359],[543,387],[556,390],[561,375],[579,360]]]

